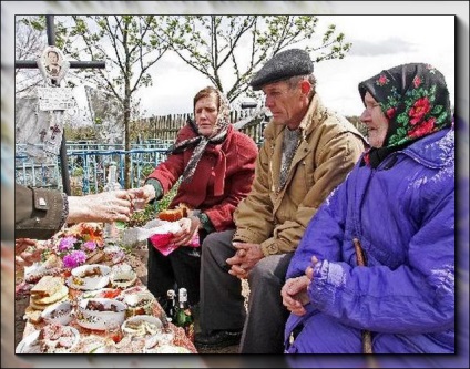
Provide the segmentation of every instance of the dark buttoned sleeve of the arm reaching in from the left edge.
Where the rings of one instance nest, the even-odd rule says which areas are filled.
[[[60,191],[14,185],[14,237],[48,239],[67,221],[67,195]]]

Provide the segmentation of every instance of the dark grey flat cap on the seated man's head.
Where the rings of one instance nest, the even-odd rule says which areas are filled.
[[[289,49],[275,54],[255,74],[249,83],[253,90],[260,90],[268,83],[289,79],[294,75],[307,75],[314,72],[314,63],[308,52]]]

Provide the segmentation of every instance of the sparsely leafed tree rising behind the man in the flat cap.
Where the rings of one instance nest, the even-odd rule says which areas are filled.
[[[351,47],[334,24],[317,35],[315,16],[171,16],[165,21],[157,34],[171,39],[172,50],[231,102],[244,93],[254,95],[248,90],[251,76],[283,49],[308,41],[304,49],[320,62],[343,59]],[[223,70],[233,71],[232,81],[223,81]]]

